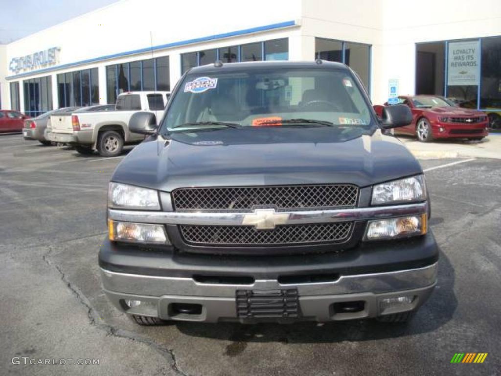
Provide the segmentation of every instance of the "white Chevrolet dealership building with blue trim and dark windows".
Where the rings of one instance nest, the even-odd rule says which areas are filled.
[[[0,104],[36,116],[168,91],[216,60],[316,58],[349,65],[375,104],[436,94],[501,113],[501,1],[123,0],[0,46]]]

